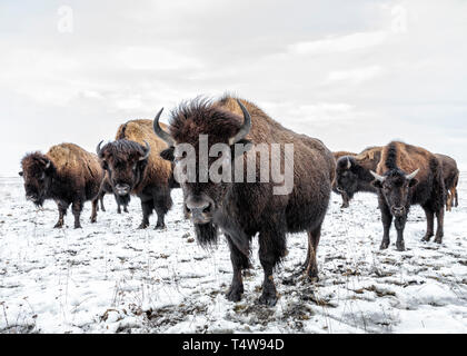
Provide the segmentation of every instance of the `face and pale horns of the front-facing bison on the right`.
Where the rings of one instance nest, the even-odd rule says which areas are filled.
[[[389,170],[385,176],[379,176],[372,171],[371,174],[376,178],[372,184],[379,189],[390,212],[395,217],[406,216],[410,207],[410,188],[418,184],[415,178],[418,169],[410,175],[406,175],[399,169]]]

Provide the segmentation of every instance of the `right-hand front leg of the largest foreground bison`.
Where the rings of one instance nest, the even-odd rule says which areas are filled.
[[[261,233],[259,236],[259,261],[265,271],[262,294],[259,304],[275,306],[277,303],[276,285],[272,270],[279,260],[286,255],[286,236],[278,231]]]

